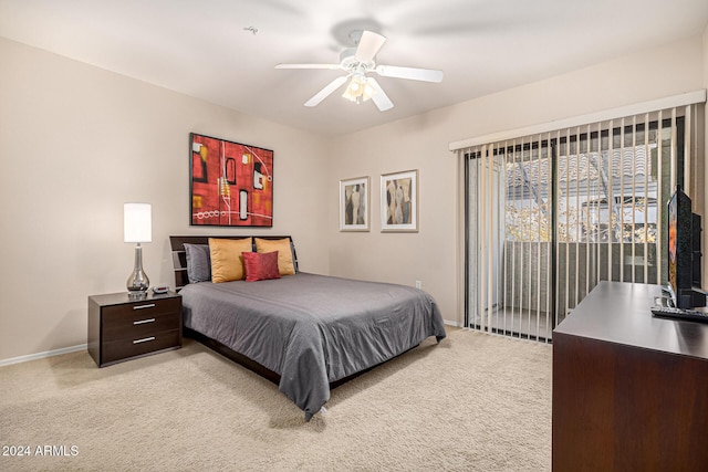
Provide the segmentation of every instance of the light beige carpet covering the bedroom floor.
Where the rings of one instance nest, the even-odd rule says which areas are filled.
[[[551,347],[462,329],[336,388],[327,413],[309,423],[274,385],[191,339],[103,369],[85,352],[2,367],[0,402],[2,452],[30,448],[30,457],[0,455],[2,471],[551,463]],[[38,455],[44,445],[62,455]]]

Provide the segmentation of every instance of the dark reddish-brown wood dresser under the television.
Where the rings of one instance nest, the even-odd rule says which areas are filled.
[[[602,282],[553,331],[553,470],[708,470],[708,325]]]

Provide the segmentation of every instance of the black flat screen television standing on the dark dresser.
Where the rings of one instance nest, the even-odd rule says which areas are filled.
[[[700,273],[700,216],[680,186],[668,202],[668,290],[674,306],[706,306]]]

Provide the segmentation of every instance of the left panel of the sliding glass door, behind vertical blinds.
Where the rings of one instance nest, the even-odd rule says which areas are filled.
[[[466,159],[468,326],[550,338],[550,149],[504,143],[483,146]]]

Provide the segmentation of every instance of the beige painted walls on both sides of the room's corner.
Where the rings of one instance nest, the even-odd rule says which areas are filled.
[[[293,234],[303,270],[419,280],[461,322],[448,144],[707,87],[705,36],[334,139],[0,39],[12,64],[0,74],[0,360],[86,342],[86,296],[123,291],[132,270],[123,202],[153,204],[153,284],[174,283],[169,234],[231,233],[188,225],[190,132],[274,149],[275,227],[261,231]],[[409,169],[419,232],[381,233],[379,176]],[[372,230],[340,232],[339,181],[361,176],[372,178]]]

